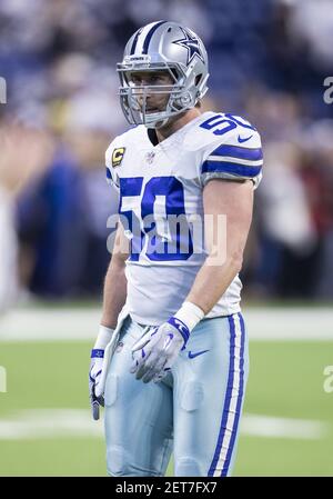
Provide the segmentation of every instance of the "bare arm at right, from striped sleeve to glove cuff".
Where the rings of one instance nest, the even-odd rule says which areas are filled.
[[[186,301],[200,307],[205,315],[242,268],[252,207],[251,182],[211,180],[204,188],[204,212],[211,216],[205,224],[209,257],[198,272]]]

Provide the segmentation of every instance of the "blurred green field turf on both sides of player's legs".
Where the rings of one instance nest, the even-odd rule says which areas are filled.
[[[90,347],[83,341],[0,342],[8,385],[8,392],[0,392],[0,476],[105,475],[102,437],[73,436],[70,430],[54,436],[52,421],[42,438],[1,436],[1,421],[22,419],[22,411],[29,410],[81,409],[90,425]],[[325,431],[313,439],[242,433],[235,476],[333,476],[333,393],[323,390],[324,367],[333,365],[332,347],[327,341],[251,343],[244,412],[314,420],[325,425]],[[39,425],[37,419],[37,430]],[[91,421],[92,429],[94,425]]]

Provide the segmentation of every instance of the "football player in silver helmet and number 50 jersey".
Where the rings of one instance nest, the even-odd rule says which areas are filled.
[[[120,223],[90,369],[108,472],[164,476],[173,451],[174,476],[224,477],[249,371],[239,271],[260,136],[238,116],[201,112],[206,51],[176,22],[139,29],[118,72],[134,127],[107,151]]]

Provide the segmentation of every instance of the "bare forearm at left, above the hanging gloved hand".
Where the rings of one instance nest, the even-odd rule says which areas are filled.
[[[101,325],[114,329],[127,299],[125,263],[112,258],[104,282]]]

